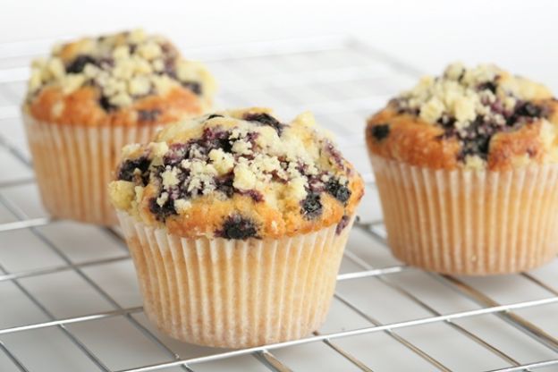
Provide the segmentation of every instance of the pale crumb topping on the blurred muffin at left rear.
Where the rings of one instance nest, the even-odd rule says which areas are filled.
[[[213,87],[204,85],[208,81],[212,83],[205,68],[182,58],[169,40],[133,30],[55,47],[47,59],[32,63],[27,98],[51,85],[60,86],[64,95],[92,86],[100,90],[99,106],[110,112],[174,87],[210,95]],[[157,114],[154,110],[139,116],[151,121]]]

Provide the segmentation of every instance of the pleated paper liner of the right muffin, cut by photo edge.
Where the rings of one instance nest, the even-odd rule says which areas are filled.
[[[529,270],[558,254],[558,165],[432,170],[371,156],[395,257],[461,275]]]

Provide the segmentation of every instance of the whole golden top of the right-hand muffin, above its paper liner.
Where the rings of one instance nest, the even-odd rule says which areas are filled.
[[[558,162],[551,92],[493,64],[449,65],[368,119],[370,152],[434,169],[509,170]]]

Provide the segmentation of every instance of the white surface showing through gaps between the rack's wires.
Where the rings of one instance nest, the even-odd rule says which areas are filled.
[[[369,17],[369,21],[375,19],[376,16]],[[109,23],[110,19],[106,24]],[[89,27],[87,22],[83,27]],[[185,39],[178,38],[179,42]],[[258,55],[262,48],[266,53],[271,51],[275,55]],[[217,51],[213,48],[191,50],[196,57],[207,60],[208,67],[216,73],[221,86],[219,106],[275,106],[286,119],[310,108],[317,114],[320,123],[338,135],[342,152],[351,158],[368,180],[372,177],[361,135],[364,118],[382,106],[387,97],[416,79],[394,66],[391,60],[383,60],[360,45],[340,43],[339,40],[241,45]],[[304,53],[291,53],[293,50]],[[228,59],[227,55],[236,59]],[[27,58],[20,58],[13,61],[11,67],[20,68],[28,62]],[[0,66],[2,63],[5,60],[0,58]],[[2,72],[0,68],[0,77]],[[11,76],[4,78],[10,80]],[[3,105],[0,106],[0,114],[4,113],[0,119],[0,143],[5,140],[8,145],[25,153],[20,120],[10,114],[17,113],[17,110],[6,108],[19,104],[22,85],[21,80],[0,84]],[[4,170],[0,179],[0,228],[2,224],[18,219],[46,216],[40,207],[36,186],[30,180],[29,169],[2,145],[0,154]],[[377,221],[381,213],[376,191],[373,187],[368,187],[367,191],[360,216],[363,222]],[[368,266],[399,265],[381,241],[373,239],[362,229],[351,232],[348,250],[359,259],[343,259],[343,274],[360,272]],[[172,361],[173,353],[179,358],[190,359],[223,352],[176,342],[158,334],[141,312],[133,312],[128,317],[78,322],[66,325],[65,329],[51,326],[2,334],[6,327],[139,306],[131,261],[120,259],[125,254],[122,242],[114,240],[114,236],[105,230],[70,222],[0,232],[0,371],[26,370],[22,368],[32,372],[99,370],[91,359],[97,359],[97,363],[106,366],[106,370],[115,371]],[[83,265],[97,259],[114,261],[99,262],[77,270],[70,268],[53,274],[34,275],[18,281],[2,280],[6,273],[21,275],[28,270],[67,266],[69,263]],[[393,324],[481,308],[462,292],[444,285],[444,279],[438,276],[413,269],[402,270],[400,274],[386,275],[382,279],[365,277],[340,282],[337,288],[340,297],[334,300],[320,332],[333,334],[375,324]],[[557,272],[558,261],[554,260],[533,275],[556,286]],[[470,279],[467,282],[503,304],[553,297],[553,293],[521,275]],[[408,293],[416,298],[410,298]],[[425,309],[421,301],[432,309]],[[552,336],[558,336],[558,305],[521,309],[518,313]],[[495,315],[465,317],[455,323],[520,363],[558,358],[555,351]],[[155,334],[168,349],[162,348],[148,336],[148,332]],[[397,329],[394,334],[378,332],[339,338],[333,342],[374,371],[437,370],[419,356],[421,352],[455,371],[510,366],[510,363],[445,322],[408,326]],[[407,342],[419,350],[411,350]],[[20,361],[22,368],[18,369],[7,357],[2,345]],[[89,357],[84,351],[89,352]],[[296,371],[358,370],[324,342],[291,346],[272,353],[285,366]],[[194,371],[268,370],[250,355],[192,364],[190,368]],[[539,370],[556,371],[558,367]]]

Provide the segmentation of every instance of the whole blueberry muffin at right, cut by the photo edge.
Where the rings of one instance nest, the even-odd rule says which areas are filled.
[[[495,65],[451,64],[368,120],[397,258],[493,275],[558,253],[558,114],[551,92]]]

